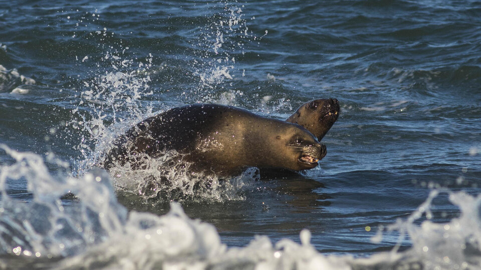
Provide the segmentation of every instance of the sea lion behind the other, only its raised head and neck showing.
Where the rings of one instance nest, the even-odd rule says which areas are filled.
[[[339,101],[336,98],[314,99],[302,104],[286,121],[303,126],[321,141],[339,113]]]

